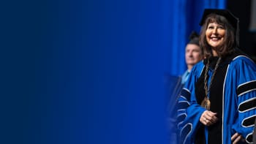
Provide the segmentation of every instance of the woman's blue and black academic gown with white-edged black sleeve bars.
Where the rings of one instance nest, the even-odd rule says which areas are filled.
[[[208,82],[213,74],[216,58],[212,58]],[[212,66],[211,66],[212,65]],[[178,98],[178,129],[181,143],[231,144],[238,132],[246,143],[252,143],[256,117],[256,65],[240,50],[222,59],[210,89],[211,111],[217,112],[219,121],[212,126],[200,123],[206,108],[200,106],[205,95],[202,77],[206,61],[192,68]],[[197,85],[197,86],[196,86]],[[221,88],[222,91],[217,91]]]

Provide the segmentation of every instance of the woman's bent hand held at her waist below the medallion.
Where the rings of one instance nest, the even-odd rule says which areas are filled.
[[[213,113],[209,110],[206,110],[202,113],[200,117],[200,122],[206,126],[210,126],[211,124],[215,124],[218,121],[217,113]]]

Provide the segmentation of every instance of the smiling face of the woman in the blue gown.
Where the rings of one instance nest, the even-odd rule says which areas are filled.
[[[224,41],[226,30],[217,23],[209,23],[206,29],[206,41],[212,48],[217,48]]]

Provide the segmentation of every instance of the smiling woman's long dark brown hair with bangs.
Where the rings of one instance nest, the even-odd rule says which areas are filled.
[[[208,45],[206,41],[206,29],[209,23],[217,23],[224,26],[226,33],[222,45],[216,49],[218,56],[224,57],[227,54],[233,53],[238,44],[236,42],[236,29],[227,21],[227,19],[222,15],[211,14],[208,15],[200,31],[199,45],[201,50],[203,50],[203,56],[209,58],[213,56],[211,46]]]

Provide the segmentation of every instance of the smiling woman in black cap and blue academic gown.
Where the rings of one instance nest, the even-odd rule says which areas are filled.
[[[178,98],[182,143],[252,143],[256,65],[238,49],[238,21],[228,10],[203,13],[205,59],[193,67]]]

